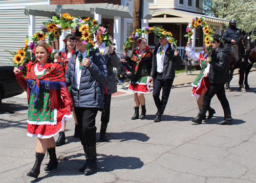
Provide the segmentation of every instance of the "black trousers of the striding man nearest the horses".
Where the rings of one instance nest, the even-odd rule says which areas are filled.
[[[217,95],[218,99],[220,100],[222,108],[223,109],[229,108],[229,103],[228,103],[228,100],[226,97],[224,85],[225,85],[225,83],[210,84],[210,87],[208,88],[208,90],[206,91],[206,93],[204,95],[204,101],[203,101],[204,109],[209,108],[211,98],[214,97],[215,94]]]

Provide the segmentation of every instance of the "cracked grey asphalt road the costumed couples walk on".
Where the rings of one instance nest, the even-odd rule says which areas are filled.
[[[84,176],[82,146],[73,138],[74,120],[67,123],[67,142],[56,147],[57,169],[37,179],[26,174],[35,161],[36,138],[27,137],[27,99],[7,98],[0,107],[0,182],[256,182],[256,72],[249,74],[251,89],[238,90],[238,76],[226,93],[232,125],[223,119],[218,98],[211,101],[216,114],[202,124],[189,119],[198,114],[192,87],[172,89],[161,122],[154,123],[156,107],[152,92],[146,97],[146,119],[131,120],[133,95],[111,101],[109,142],[97,143],[97,172]],[[100,112],[96,125],[100,128]],[[55,136],[57,139],[57,136]]]

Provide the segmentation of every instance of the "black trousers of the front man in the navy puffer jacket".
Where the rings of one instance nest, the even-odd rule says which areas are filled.
[[[95,118],[98,108],[77,108],[75,107],[76,119],[79,129],[79,139],[83,146],[89,147],[96,144]]]

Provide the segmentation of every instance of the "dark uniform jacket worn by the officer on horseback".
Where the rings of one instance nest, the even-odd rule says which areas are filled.
[[[235,26],[235,25],[234,25]],[[238,29],[237,27],[234,27],[233,29],[229,27],[225,30],[225,32],[223,33],[223,40],[224,40],[224,48],[231,50],[231,40],[235,40],[236,42],[238,42],[239,38],[242,36],[242,32],[240,29]]]

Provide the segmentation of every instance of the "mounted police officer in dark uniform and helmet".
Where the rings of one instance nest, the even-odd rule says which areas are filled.
[[[233,18],[229,20],[229,26],[223,33],[224,48],[229,50],[229,55],[231,53],[231,44],[238,42],[240,36],[243,35],[236,24],[237,22]]]

